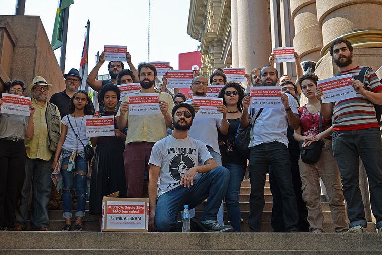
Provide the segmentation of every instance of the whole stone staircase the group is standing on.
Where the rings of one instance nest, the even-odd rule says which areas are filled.
[[[272,232],[272,195],[268,178],[264,189],[265,207],[262,231]],[[242,232],[248,232],[249,181],[243,181],[240,191]],[[324,202],[324,229],[334,232],[329,203]],[[58,210],[49,210],[49,232],[1,231],[0,254],[382,254],[380,233],[128,233],[96,232],[97,217],[88,214],[83,228],[89,232],[57,232],[64,226],[62,203]],[[204,204],[196,209],[202,214]],[[225,205],[224,205],[225,209]],[[225,221],[227,221],[224,214]],[[31,230],[28,226],[27,230]],[[375,224],[368,223],[367,232],[375,232]]]

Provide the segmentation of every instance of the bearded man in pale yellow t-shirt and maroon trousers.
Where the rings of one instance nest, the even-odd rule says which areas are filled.
[[[127,197],[147,197],[147,179],[149,175],[148,159],[155,142],[167,135],[167,127],[172,129],[171,110],[174,101],[170,94],[155,91],[154,83],[157,70],[151,64],[138,66],[138,79],[142,89],[135,94],[158,93],[161,113],[155,115],[129,115],[129,97],[125,96],[116,118],[118,128],[126,133],[124,167]]]

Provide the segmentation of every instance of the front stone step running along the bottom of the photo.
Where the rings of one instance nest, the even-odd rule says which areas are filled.
[[[382,250],[379,233],[131,233],[1,231],[3,249],[103,250]],[[254,252],[251,252],[254,253]],[[44,252],[40,254],[45,254]],[[89,254],[89,253],[88,253]],[[256,253],[257,254],[257,253]],[[380,253],[379,253],[380,254]]]

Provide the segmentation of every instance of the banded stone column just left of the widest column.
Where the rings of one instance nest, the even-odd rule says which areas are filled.
[[[301,62],[320,59],[323,47],[321,27],[318,26],[316,1],[290,0],[291,17],[294,22],[293,46],[301,56]]]

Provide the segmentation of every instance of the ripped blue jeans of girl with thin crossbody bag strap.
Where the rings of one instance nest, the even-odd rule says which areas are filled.
[[[62,201],[64,204],[64,218],[71,218],[72,195],[77,196],[76,217],[85,217],[86,203],[86,180],[88,174],[88,162],[82,157],[75,158],[75,169],[68,171],[69,157],[62,160],[61,174],[63,183]]]

